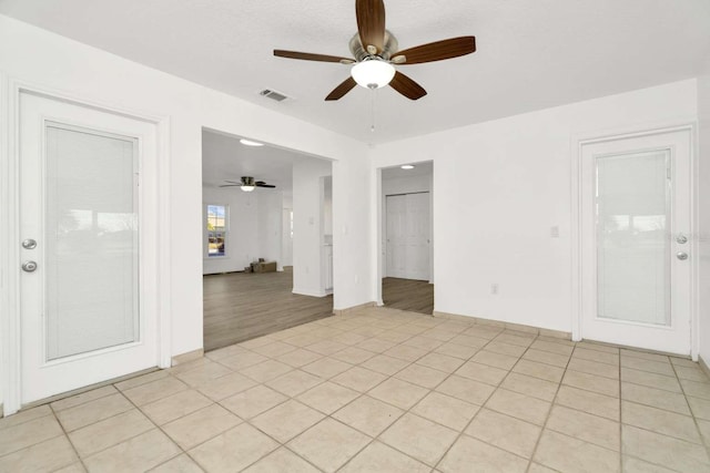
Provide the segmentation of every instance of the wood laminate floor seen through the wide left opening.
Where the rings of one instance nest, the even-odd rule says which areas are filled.
[[[203,277],[205,351],[333,315],[333,296],[293,294],[293,270],[284,269]]]

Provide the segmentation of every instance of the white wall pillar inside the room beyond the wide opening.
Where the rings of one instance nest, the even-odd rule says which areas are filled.
[[[331,163],[297,160],[293,164],[293,291],[325,296],[321,275],[321,178]]]

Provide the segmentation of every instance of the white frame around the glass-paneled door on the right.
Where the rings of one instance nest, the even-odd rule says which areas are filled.
[[[699,222],[699,173],[698,173],[698,133],[697,121],[689,119],[684,121],[656,123],[647,126],[635,126],[628,128],[608,130],[601,133],[581,133],[574,134],[570,142],[570,203],[571,203],[571,222],[570,222],[570,246],[571,246],[571,265],[570,265],[570,313],[571,313],[571,332],[572,341],[580,341],[584,338],[582,327],[582,147],[597,143],[612,142],[626,138],[652,136],[672,132],[687,132],[690,137],[690,241],[689,251],[691,255],[697,254],[698,249],[698,222]],[[699,269],[698,258],[690,258],[690,354],[693,361],[698,360],[699,352]]]

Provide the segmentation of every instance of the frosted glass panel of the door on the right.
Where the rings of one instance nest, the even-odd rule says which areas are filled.
[[[669,152],[596,158],[597,316],[670,325]]]

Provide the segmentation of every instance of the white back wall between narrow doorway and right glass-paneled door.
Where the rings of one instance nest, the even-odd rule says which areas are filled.
[[[434,161],[435,310],[571,331],[575,137],[696,117],[688,80],[381,145],[371,179]]]

